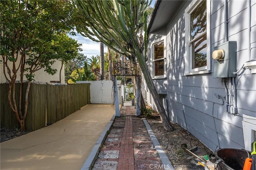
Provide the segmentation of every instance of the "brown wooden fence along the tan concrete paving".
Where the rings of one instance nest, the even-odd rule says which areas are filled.
[[[1,130],[20,129],[15,114],[8,103],[8,85],[0,84],[0,128]],[[27,84],[22,88],[26,91]],[[16,102],[18,102],[20,83],[16,83]],[[24,110],[25,94],[22,95]],[[90,103],[90,84],[71,84],[54,86],[50,84],[31,84],[28,95],[28,114],[26,130],[35,131],[55,123]],[[18,105],[18,103],[17,103]]]

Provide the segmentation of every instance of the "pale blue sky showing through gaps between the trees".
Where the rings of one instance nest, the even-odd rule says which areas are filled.
[[[155,3],[156,3],[156,0],[152,0],[152,3],[150,6],[154,8]],[[69,36],[77,40],[78,43],[82,44],[82,46],[80,47],[82,51],[80,51],[80,53],[83,53],[84,55],[86,55],[87,58],[100,55],[100,43],[92,41],[88,37],[84,37],[78,33],[76,33],[76,36],[72,36],[72,35],[69,35]],[[106,52],[107,52],[107,47],[104,47],[104,53]]]

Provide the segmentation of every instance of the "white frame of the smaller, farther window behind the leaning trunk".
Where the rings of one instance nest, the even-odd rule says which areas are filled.
[[[154,64],[154,45],[164,42],[164,75],[155,76],[155,64]],[[150,60],[151,60],[151,66],[152,66],[152,78],[153,79],[160,79],[160,78],[166,78],[166,36],[163,36],[159,39],[156,39],[151,42],[150,45]],[[157,60],[156,60],[157,61]]]

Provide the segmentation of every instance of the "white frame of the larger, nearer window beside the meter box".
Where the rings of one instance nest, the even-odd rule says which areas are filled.
[[[210,41],[210,0],[206,0],[206,66],[199,68],[192,68],[192,45],[190,45],[190,14],[194,9],[200,4],[202,0],[193,0],[188,7],[185,9],[185,48],[186,48],[186,67],[185,67],[185,75],[194,75],[194,74],[205,74],[211,72],[211,41]],[[198,36],[200,37],[200,36]],[[196,38],[197,39],[197,38]]]

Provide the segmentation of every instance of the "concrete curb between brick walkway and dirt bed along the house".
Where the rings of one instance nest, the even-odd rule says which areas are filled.
[[[162,149],[160,143],[158,142],[156,136],[154,135],[154,132],[152,131],[150,125],[148,124],[148,121],[145,118],[142,118],[142,120],[143,120],[144,124],[146,125],[148,135],[150,136],[150,139],[151,139],[156,151],[158,152],[158,155],[162,162],[163,168],[165,170],[174,170],[172,163],[168,159],[167,155],[164,153],[164,150]]]

